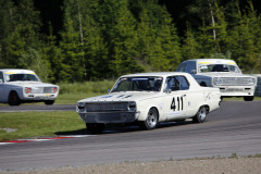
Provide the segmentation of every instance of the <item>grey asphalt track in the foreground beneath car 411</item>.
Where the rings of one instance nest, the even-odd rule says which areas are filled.
[[[202,124],[186,121],[161,124],[153,130],[113,129],[80,138],[0,146],[0,171],[261,154],[261,101],[222,102]],[[85,130],[60,133],[71,134],[89,135]]]

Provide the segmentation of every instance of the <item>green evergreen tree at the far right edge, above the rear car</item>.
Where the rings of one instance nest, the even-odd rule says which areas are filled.
[[[261,18],[249,2],[249,8],[241,13],[237,25],[231,30],[233,36],[233,59],[237,60],[243,71],[248,73],[260,72],[260,49],[261,49]]]

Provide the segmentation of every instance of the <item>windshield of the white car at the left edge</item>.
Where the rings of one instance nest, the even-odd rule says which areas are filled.
[[[39,82],[35,74],[5,74],[7,82]]]

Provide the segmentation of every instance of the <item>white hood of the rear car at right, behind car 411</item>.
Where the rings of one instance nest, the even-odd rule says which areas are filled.
[[[209,77],[252,77],[251,75],[245,75],[241,73],[231,72],[213,72],[213,73],[198,73],[196,76],[209,76]]]

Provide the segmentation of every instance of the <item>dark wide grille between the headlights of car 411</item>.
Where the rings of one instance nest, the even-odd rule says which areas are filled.
[[[128,102],[87,103],[87,112],[128,111]]]

